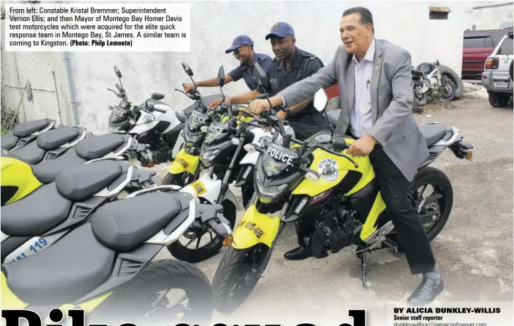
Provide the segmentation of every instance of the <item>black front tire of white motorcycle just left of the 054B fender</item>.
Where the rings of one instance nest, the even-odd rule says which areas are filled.
[[[234,229],[235,226],[235,205],[230,202],[230,200],[223,200],[223,217],[228,219],[230,222],[230,229]],[[193,242],[194,243],[194,242]],[[168,251],[173,257],[178,260],[183,260],[185,262],[201,262],[204,260],[208,260],[209,258],[216,255],[216,253],[221,250],[223,247],[223,239],[219,236],[215,236],[212,243],[209,243],[206,248],[189,249],[186,248],[180,241],[175,241],[170,244]]]

